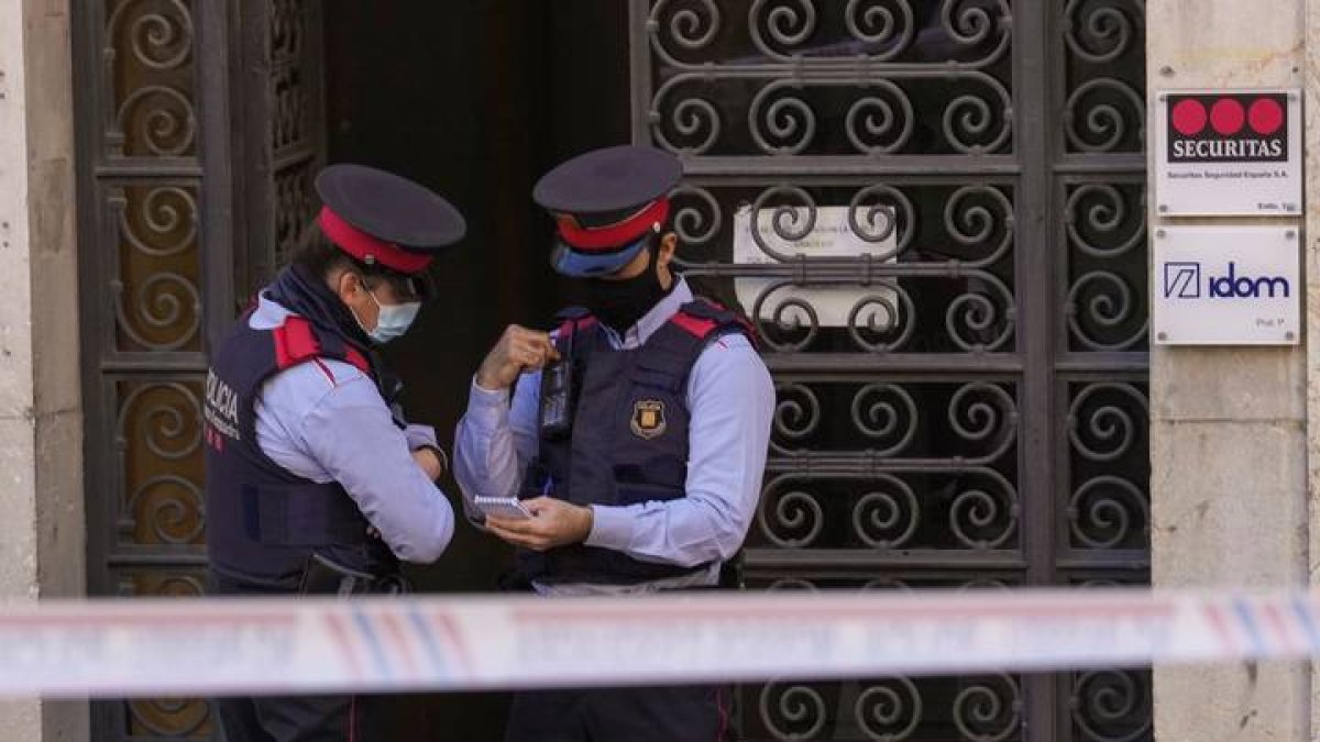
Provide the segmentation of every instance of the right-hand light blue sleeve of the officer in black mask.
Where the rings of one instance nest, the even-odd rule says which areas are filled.
[[[774,408],[774,383],[752,346],[742,337],[713,343],[688,383],[686,496],[591,506],[587,545],[680,566],[730,558],[756,512]]]

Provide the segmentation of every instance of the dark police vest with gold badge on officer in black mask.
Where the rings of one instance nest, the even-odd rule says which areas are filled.
[[[579,506],[628,506],[686,496],[688,376],[711,341],[750,330],[733,312],[705,300],[684,305],[645,343],[614,350],[585,310],[560,314],[556,345],[574,379],[573,426],[541,436],[520,498],[554,496]],[[689,574],[685,568],[635,560],[574,544],[519,552],[523,577],[541,584],[638,584]]]

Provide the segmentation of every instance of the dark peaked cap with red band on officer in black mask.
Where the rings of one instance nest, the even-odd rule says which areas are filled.
[[[602,276],[631,263],[669,218],[669,191],[681,178],[673,154],[631,145],[587,152],[546,173],[532,198],[558,224],[554,269]]]

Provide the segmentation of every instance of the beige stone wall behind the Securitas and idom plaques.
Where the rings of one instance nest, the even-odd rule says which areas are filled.
[[[1316,0],[1150,0],[1151,106],[1162,90],[1300,87],[1308,1]],[[1269,223],[1280,222],[1298,223]],[[1160,219],[1152,209],[1151,231],[1166,223],[1196,222]],[[1315,322],[1308,326],[1313,333]],[[1304,347],[1316,347],[1313,338]],[[1302,347],[1152,349],[1156,586],[1307,582],[1307,378]],[[1156,737],[1303,742],[1311,738],[1309,677],[1295,663],[1156,668]]]

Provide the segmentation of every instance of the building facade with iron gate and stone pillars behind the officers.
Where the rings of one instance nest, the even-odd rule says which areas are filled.
[[[1180,88],[1316,95],[1312,5],[4,3],[0,253],[21,269],[0,302],[0,594],[202,591],[207,351],[310,222],[322,164],[396,169],[469,215],[444,298],[391,349],[445,429],[499,327],[570,297],[531,184],[630,140],[682,157],[678,260],[755,320],[775,375],[748,589],[1309,585],[1320,337],[1152,347],[1151,240],[1222,222],[1159,211],[1147,120]],[[1251,223],[1315,234],[1311,211]],[[461,533],[416,578],[490,589],[506,557]],[[1302,741],[1309,673],[768,683],[738,722]],[[395,737],[496,738],[503,704],[404,698]],[[198,700],[0,718],[22,739],[215,738]]]

